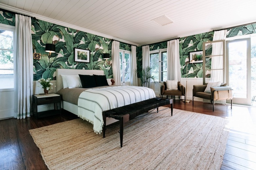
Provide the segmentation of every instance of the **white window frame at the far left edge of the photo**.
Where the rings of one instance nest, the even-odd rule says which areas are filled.
[[[0,23],[0,29],[2,30],[6,30],[6,31],[12,31],[13,32],[13,49],[10,51],[13,51],[13,60],[14,60],[14,54],[15,54],[15,46],[14,46],[14,42],[16,41],[16,36],[15,36],[15,26],[11,26],[11,25],[5,25],[5,24],[1,24]],[[1,50],[9,50],[9,49],[1,49]],[[1,69],[1,70],[10,70],[10,69]],[[12,69],[11,69],[12,70]],[[13,88],[5,88],[5,89],[1,89],[0,88],[0,92],[10,92],[10,91],[14,91],[14,63],[13,63]],[[1,76],[1,75],[0,75]]]

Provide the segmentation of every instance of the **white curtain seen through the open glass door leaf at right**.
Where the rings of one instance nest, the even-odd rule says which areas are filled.
[[[221,30],[221,31],[214,31],[213,35],[213,41],[218,40],[225,40],[227,35],[227,30]],[[222,42],[215,42],[212,44],[212,69],[223,69],[223,43]],[[210,81],[220,81],[224,83],[223,81],[223,71],[222,70],[212,70],[211,71],[211,79]]]

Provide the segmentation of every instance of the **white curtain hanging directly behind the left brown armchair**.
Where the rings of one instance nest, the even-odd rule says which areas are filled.
[[[167,42],[167,80],[181,81],[179,39]]]

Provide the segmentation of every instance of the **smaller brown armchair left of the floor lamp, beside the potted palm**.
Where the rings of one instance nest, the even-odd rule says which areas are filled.
[[[161,85],[161,98],[163,95],[178,95],[178,96],[185,96],[186,90],[185,87],[178,81],[178,90],[167,90],[166,82],[164,81]],[[185,96],[186,100],[186,96]]]

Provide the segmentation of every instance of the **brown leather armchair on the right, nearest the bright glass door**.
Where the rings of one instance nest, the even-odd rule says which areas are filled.
[[[216,100],[231,100],[231,109],[232,109],[232,98],[233,98],[233,89],[227,84],[221,84],[220,87],[211,87],[211,93],[205,93],[207,85],[194,85],[193,86],[193,105],[194,98],[199,97],[207,100],[211,100],[212,111],[214,111],[214,101]]]

